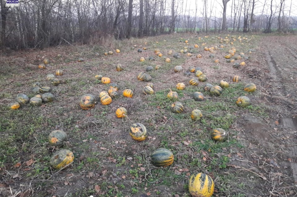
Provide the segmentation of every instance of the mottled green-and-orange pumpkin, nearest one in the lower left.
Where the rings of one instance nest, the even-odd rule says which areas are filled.
[[[62,149],[55,152],[54,155],[50,158],[50,165],[53,168],[60,170],[68,164],[72,163],[73,160],[73,153],[70,150]]]

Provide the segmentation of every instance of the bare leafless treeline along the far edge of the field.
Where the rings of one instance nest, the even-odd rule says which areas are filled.
[[[229,1],[223,0],[224,5]],[[43,49],[60,44],[100,43],[110,35],[123,39],[198,29],[291,31],[297,27],[297,18],[291,17],[291,6],[289,14],[284,13],[285,0],[280,1],[282,5],[267,1],[267,9],[255,15],[255,0],[232,0],[227,17],[226,9],[214,10],[208,0],[196,1],[189,7],[187,0],[24,0],[13,9],[0,1],[0,46]]]

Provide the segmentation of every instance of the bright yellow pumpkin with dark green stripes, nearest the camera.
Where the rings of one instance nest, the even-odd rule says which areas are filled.
[[[193,197],[210,197],[213,195],[213,179],[204,173],[193,174],[189,181],[189,192]]]

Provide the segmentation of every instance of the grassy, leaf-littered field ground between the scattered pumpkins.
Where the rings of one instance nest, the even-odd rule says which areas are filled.
[[[182,38],[181,38],[182,36]],[[263,90],[259,79],[251,76],[249,68],[257,67],[259,54],[249,49],[259,50],[259,36],[220,35],[236,39],[233,45],[217,39],[219,35],[209,37],[194,34],[164,35],[144,39],[124,41],[111,40],[106,46],[75,46],[49,48],[44,51],[20,51],[1,60],[2,84],[0,92],[0,194],[3,196],[191,196],[188,192],[190,175],[198,172],[209,174],[215,182],[213,196],[251,196],[259,194],[260,177],[254,175],[248,167],[236,163],[242,161],[248,151],[248,143],[243,143],[240,132],[242,117],[252,116],[270,121],[272,109],[260,101]],[[231,36],[233,36],[231,38]],[[238,37],[247,40],[239,42]],[[186,45],[185,40],[189,41]],[[146,44],[145,44],[146,42]],[[200,47],[193,47],[198,44]],[[133,47],[136,45],[136,47]],[[222,48],[219,46],[223,45]],[[204,47],[218,46],[214,50],[215,58],[209,58],[209,51]],[[138,53],[138,48],[146,47]],[[179,53],[181,58],[168,55],[169,50],[192,50],[193,56]],[[239,69],[227,63],[224,54],[236,48],[249,57],[246,66]],[[115,49],[120,53],[115,53]],[[157,57],[154,49],[160,49],[162,57]],[[103,55],[105,51],[114,51],[113,55]],[[99,56],[95,56],[99,53]],[[61,54],[62,57],[57,55]],[[202,58],[196,58],[201,54]],[[149,61],[148,57],[154,57]],[[140,62],[140,57],[146,60]],[[38,69],[43,59],[49,59],[46,69]],[[83,62],[77,62],[84,58]],[[170,58],[171,63],[165,59]],[[219,59],[220,63],[214,63]],[[124,71],[117,72],[116,64],[122,64]],[[137,74],[147,66],[161,65],[161,69],[146,72],[153,78],[154,94],[144,95],[142,89],[146,82],[137,80]],[[174,67],[181,65],[183,71],[174,72]],[[190,67],[200,67],[208,77],[207,82],[191,86],[189,80],[195,78],[184,75]],[[3,69],[2,69],[3,68]],[[61,84],[52,87],[46,75],[62,69],[64,75],[57,76]],[[120,96],[110,105],[101,105],[98,95],[107,91],[108,84],[102,84],[95,75],[110,77],[117,83]],[[232,82],[232,77],[239,75],[242,81]],[[203,91],[206,83],[218,85],[221,80],[229,82],[221,96],[214,97]],[[40,107],[28,105],[18,110],[7,108],[19,93],[29,98],[35,94],[31,88],[34,82],[41,82],[53,88],[55,100]],[[182,82],[185,90],[177,90],[175,85]],[[247,83],[257,84],[254,93],[243,91]],[[259,86],[258,86],[259,85]],[[134,92],[133,98],[122,96],[124,89]],[[183,113],[172,113],[173,101],[167,98],[169,88],[179,95],[178,101],[184,106]],[[192,98],[193,92],[203,92],[204,101]],[[82,110],[80,97],[92,94],[97,98],[97,105],[90,110]],[[252,105],[239,108],[235,101],[239,96],[248,96]],[[118,119],[115,110],[125,107],[128,117]],[[199,121],[190,118],[192,110],[200,109],[203,117]],[[272,120],[271,120],[272,121]],[[136,122],[144,124],[149,137],[137,142],[129,135],[130,125]],[[226,142],[215,142],[210,131],[222,128],[228,132]],[[49,160],[53,153],[62,148],[48,144],[48,135],[55,129],[65,131],[68,142],[62,147],[74,153],[74,162],[66,169],[58,171],[52,168]],[[174,163],[165,168],[154,167],[150,163],[150,154],[166,148],[173,152]],[[252,165],[252,164],[251,164]],[[245,169],[245,170],[243,170]],[[247,177],[254,175],[256,178]],[[254,184],[259,183],[259,185]]]

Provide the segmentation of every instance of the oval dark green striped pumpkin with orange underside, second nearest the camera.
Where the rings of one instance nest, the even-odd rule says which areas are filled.
[[[151,162],[155,167],[170,166],[174,161],[174,155],[170,150],[160,148],[152,152]]]

